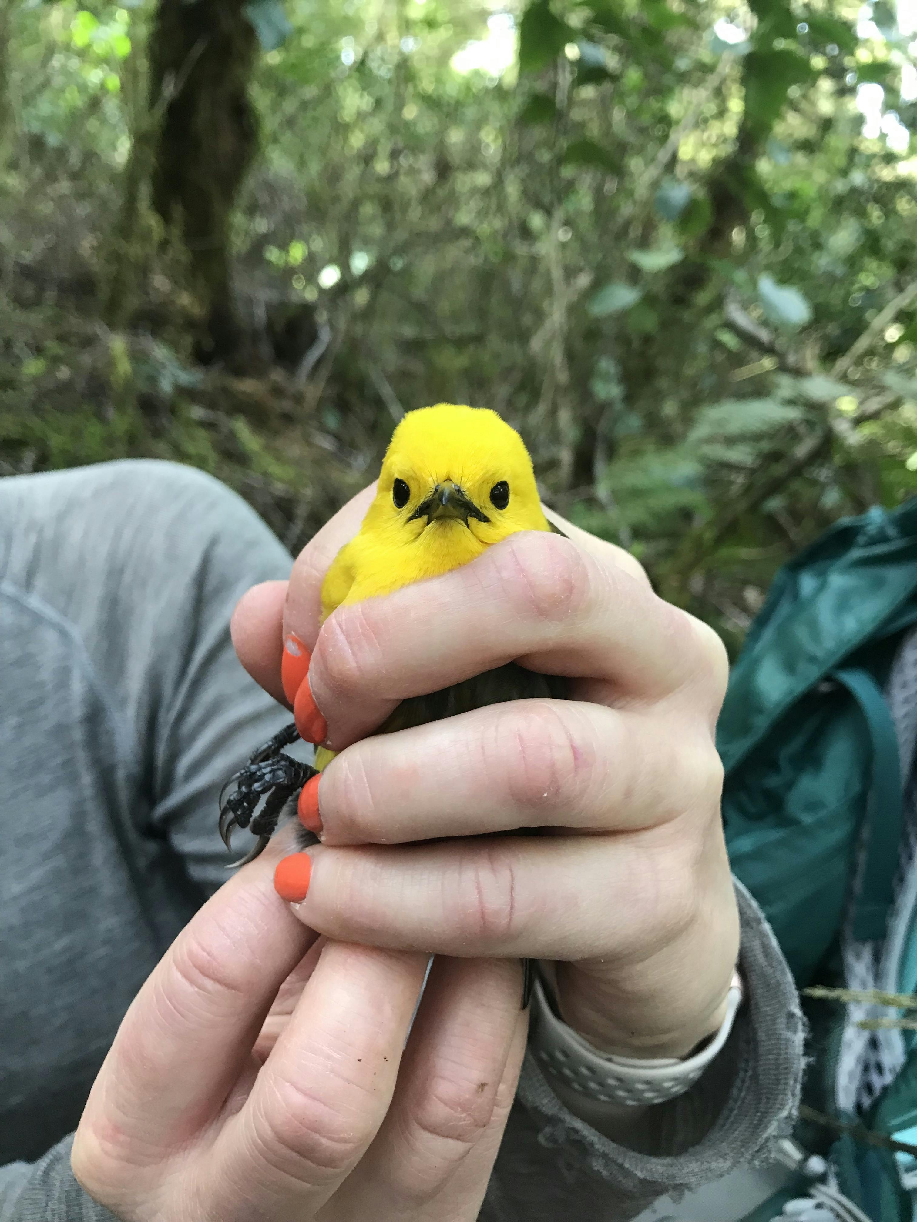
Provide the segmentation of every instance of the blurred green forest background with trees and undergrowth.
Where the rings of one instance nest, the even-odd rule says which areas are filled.
[[[296,551],[489,406],[735,650],[917,483],[916,65],[916,0],[0,0],[0,473],[193,463]]]

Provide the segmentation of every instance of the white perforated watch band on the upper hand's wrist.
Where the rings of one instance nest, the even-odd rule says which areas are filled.
[[[531,1048],[548,1073],[587,1099],[635,1106],[664,1103],[690,1090],[726,1042],[742,993],[742,980],[736,971],[727,995],[726,1017],[715,1036],[685,1061],[676,1057],[649,1061],[599,1052],[558,1018],[548,1003],[542,981],[536,980]]]

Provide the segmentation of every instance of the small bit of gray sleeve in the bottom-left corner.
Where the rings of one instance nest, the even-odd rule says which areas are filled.
[[[117,1222],[73,1178],[72,1144],[70,1135],[38,1162],[0,1167],[0,1222]]]

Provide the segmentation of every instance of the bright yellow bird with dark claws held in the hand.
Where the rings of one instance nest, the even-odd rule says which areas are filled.
[[[358,533],[325,574],[322,621],[345,604],[380,598],[467,565],[518,530],[556,532],[542,510],[532,459],[518,433],[487,408],[438,403],[408,412],[392,434]],[[379,733],[504,700],[565,694],[562,679],[510,662],[402,700]],[[314,767],[284,754],[282,748],[298,737],[296,726],[289,726],[256,752],[221,802],[220,832],[227,846],[236,826],[258,836],[240,865],[258,855],[287,802],[334,759],[324,747],[315,752]],[[304,843],[315,843],[315,837],[306,833]]]

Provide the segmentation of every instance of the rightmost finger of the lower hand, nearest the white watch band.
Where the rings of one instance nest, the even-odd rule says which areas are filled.
[[[335,1218],[478,1216],[489,1166],[478,1167],[478,1183],[462,1194],[450,1193],[450,1182],[494,1122],[500,1130],[505,1123],[499,1095],[520,1019],[526,1022],[521,984],[516,962],[435,959],[391,1107],[336,1194]]]

